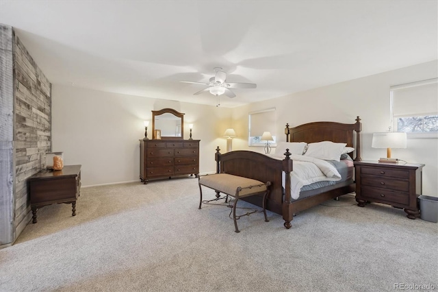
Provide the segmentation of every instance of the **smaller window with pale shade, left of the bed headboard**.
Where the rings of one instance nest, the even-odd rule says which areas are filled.
[[[264,146],[266,141],[261,141],[263,132],[270,132],[274,141],[271,146],[276,146],[275,108],[257,110],[248,114],[248,146]]]

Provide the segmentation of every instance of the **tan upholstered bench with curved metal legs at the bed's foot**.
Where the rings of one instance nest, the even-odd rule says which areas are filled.
[[[266,197],[269,193],[270,182],[259,182],[250,178],[244,178],[242,176],[231,175],[228,173],[216,173],[211,175],[198,175],[199,193],[201,199],[199,202],[199,208],[203,203],[203,190],[201,186],[207,186],[207,188],[214,189],[217,193],[224,193],[235,198],[233,204],[233,220],[235,226],[235,232],[240,232],[237,228],[237,221],[235,218],[235,208],[237,201],[242,197],[248,197],[250,195],[256,195],[263,193],[263,214],[265,215],[265,221],[268,222],[266,217]]]

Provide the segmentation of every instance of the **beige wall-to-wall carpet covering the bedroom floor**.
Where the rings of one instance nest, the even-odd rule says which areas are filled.
[[[83,188],[76,217],[71,205],[41,208],[0,250],[0,291],[438,290],[438,224],[403,210],[346,195],[290,230],[272,212],[242,217],[237,234],[229,208],[198,210],[198,199],[194,178]]]

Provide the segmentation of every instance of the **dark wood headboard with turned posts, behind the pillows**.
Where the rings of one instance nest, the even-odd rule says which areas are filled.
[[[359,116],[355,121],[356,123],[336,123],[329,121],[320,121],[305,123],[296,127],[289,127],[289,124],[287,123],[285,127],[286,141],[307,143],[332,141],[335,143],[347,143],[348,147],[355,147],[356,149],[356,158],[354,158],[354,160],[360,161],[362,160],[362,124]],[[356,141],[353,132],[356,132]],[[352,154],[350,154],[350,156],[352,156]]]

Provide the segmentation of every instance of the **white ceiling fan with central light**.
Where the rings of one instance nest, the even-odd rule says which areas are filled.
[[[203,90],[199,90],[197,93],[194,93],[194,95],[199,95],[201,93],[205,93],[209,91],[212,95],[216,95],[218,97],[219,95],[227,95],[227,97],[235,97],[235,94],[233,91],[230,90],[230,88],[256,88],[257,84],[253,83],[236,83],[236,82],[226,82],[227,81],[227,73],[222,71],[222,68],[216,67],[214,68],[215,75],[214,77],[211,77],[209,80],[209,83],[205,82],[195,82],[195,81],[181,81],[185,83],[193,83],[193,84],[202,84],[206,85],[207,88],[204,88]]]

